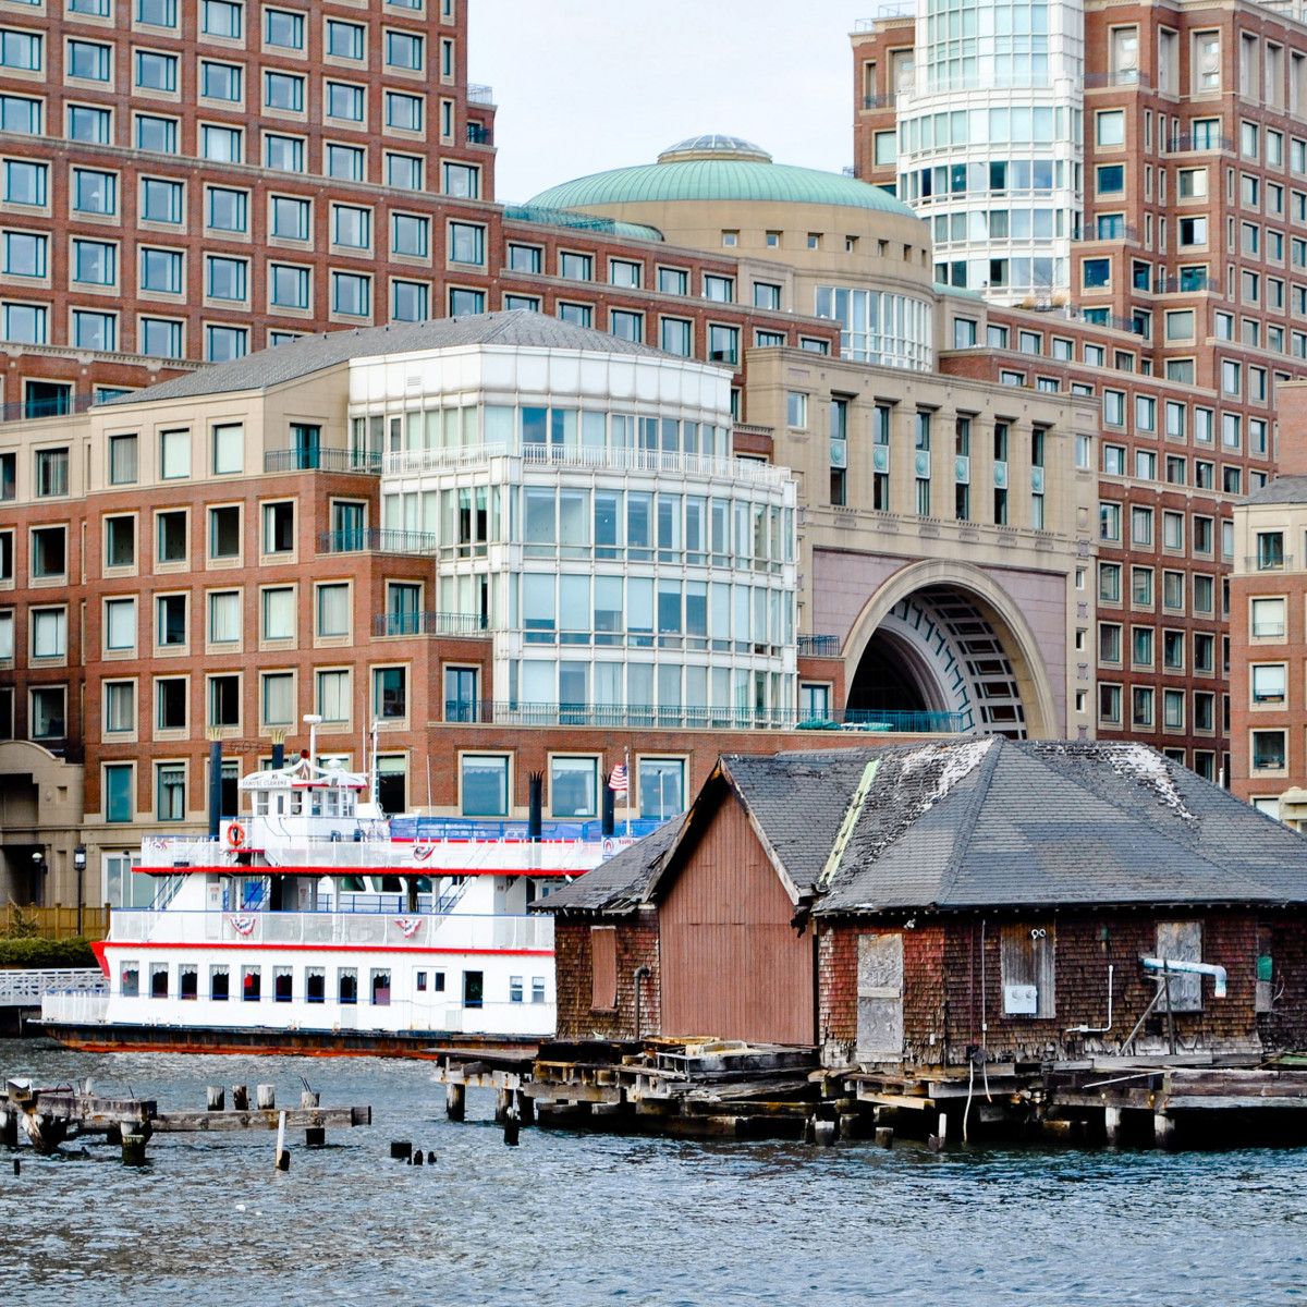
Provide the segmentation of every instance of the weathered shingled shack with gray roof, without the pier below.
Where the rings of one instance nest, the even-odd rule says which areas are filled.
[[[559,1039],[1116,1052],[1166,958],[1209,974],[1172,974],[1131,1051],[1307,1044],[1307,840],[1140,745],[723,757],[681,822],[542,907]]]

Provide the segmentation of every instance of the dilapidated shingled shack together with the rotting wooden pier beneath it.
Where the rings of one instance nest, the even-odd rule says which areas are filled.
[[[857,1128],[1174,1144],[1307,1120],[1281,1061],[1307,1050],[1307,839],[1141,745],[724,757],[681,822],[537,910],[567,1050],[519,1084],[541,1107],[690,1116],[707,1073],[673,1089],[660,1048],[710,1033],[801,1051],[793,1110]]]

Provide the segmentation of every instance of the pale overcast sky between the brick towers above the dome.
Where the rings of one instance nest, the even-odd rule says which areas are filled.
[[[701,132],[853,162],[848,33],[880,0],[469,0],[468,80],[499,105],[497,199]]]

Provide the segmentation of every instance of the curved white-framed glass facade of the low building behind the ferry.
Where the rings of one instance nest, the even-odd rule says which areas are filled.
[[[796,482],[731,456],[720,370],[587,362],[484,357],[456,389],[352,406],[356,448],[383,440],[383,540],[437,559],[435,610],[395,593],[389,633],[490,633],[481,720],[788,724]]]

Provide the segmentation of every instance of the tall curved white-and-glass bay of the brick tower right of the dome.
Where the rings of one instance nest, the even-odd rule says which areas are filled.
[[[1065,298],[1080,235],[1084,9],[920,0],[899,85],[899,187],[936,280],[1001,303]]]

